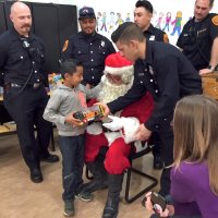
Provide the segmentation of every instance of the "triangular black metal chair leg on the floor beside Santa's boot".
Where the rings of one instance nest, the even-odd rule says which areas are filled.
[[[150,180],[150,184],[148,186],[146,186],[145,189],[143,189],[141,192],[138,192],[137,194],[133,195],[133,196],[130,196],[130,183],[131,183],[131,175],[132,175],[132,172],[135,172],[136,174],[140,174],[142,175],[143,178],[146,178],[148,180]],[[126,172],[126,186],[125,186],[125,201],[128,203],[132,203],[134,202],[135,199],[137,199],[138,197],[141,197],[143,194],[145,194],[146,192],[148,192],[149,190],[152,190],[153,187],[155,187],[158,183],[158,180],[145,172],[142,172],[133,167],[129,168],[128,169],[128,172]]]

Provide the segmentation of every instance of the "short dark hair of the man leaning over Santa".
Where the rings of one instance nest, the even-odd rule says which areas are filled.
[[[118,40],[129,43],[130,40],[143,41],[145,36],[142,29],[132,22],[121,24],[111,35],[112,41],[116,44]]]

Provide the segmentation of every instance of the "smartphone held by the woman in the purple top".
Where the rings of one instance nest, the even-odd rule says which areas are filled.
[[[150,202],[153,203],[154,210],[158,214],[167,207],[166,198],[156,192],[152,192]]]

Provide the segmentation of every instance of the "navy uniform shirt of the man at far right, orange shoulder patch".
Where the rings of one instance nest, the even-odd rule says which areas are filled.
[[[209,65],[213,41],[218,37],[217,21],[218,15],[214,13],[201,22],[195,22],[193,17],[184,25],[178,39],[177,46],[183,49],[182,52],[197,71]]]

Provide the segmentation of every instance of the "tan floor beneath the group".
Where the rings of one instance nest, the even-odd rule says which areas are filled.
[[[56,154],[60,155],[56,136]],[[160,171],[152,170],[152,155],[147,155],[135,165],[159,178]],[[29,172],[21,157],[16,135],[0,137],[0,218],[62,218],[61,162],[43,164],[44,182],[35,184],[29,180]],[[85,178],[84,178],[85,179]],[[86,181],[86,179],[85,179]],[[144,187],[146,182],[138,175],[133,177],[133,192]],[[121,193],[118,218],[148,218],[149,215],[136,199],[126,204]],[[158,190],[158,186],[155,187]],[[95,193],[90,203],[75,201],[75,218],[101,218],[107,197],[107,190]]]

